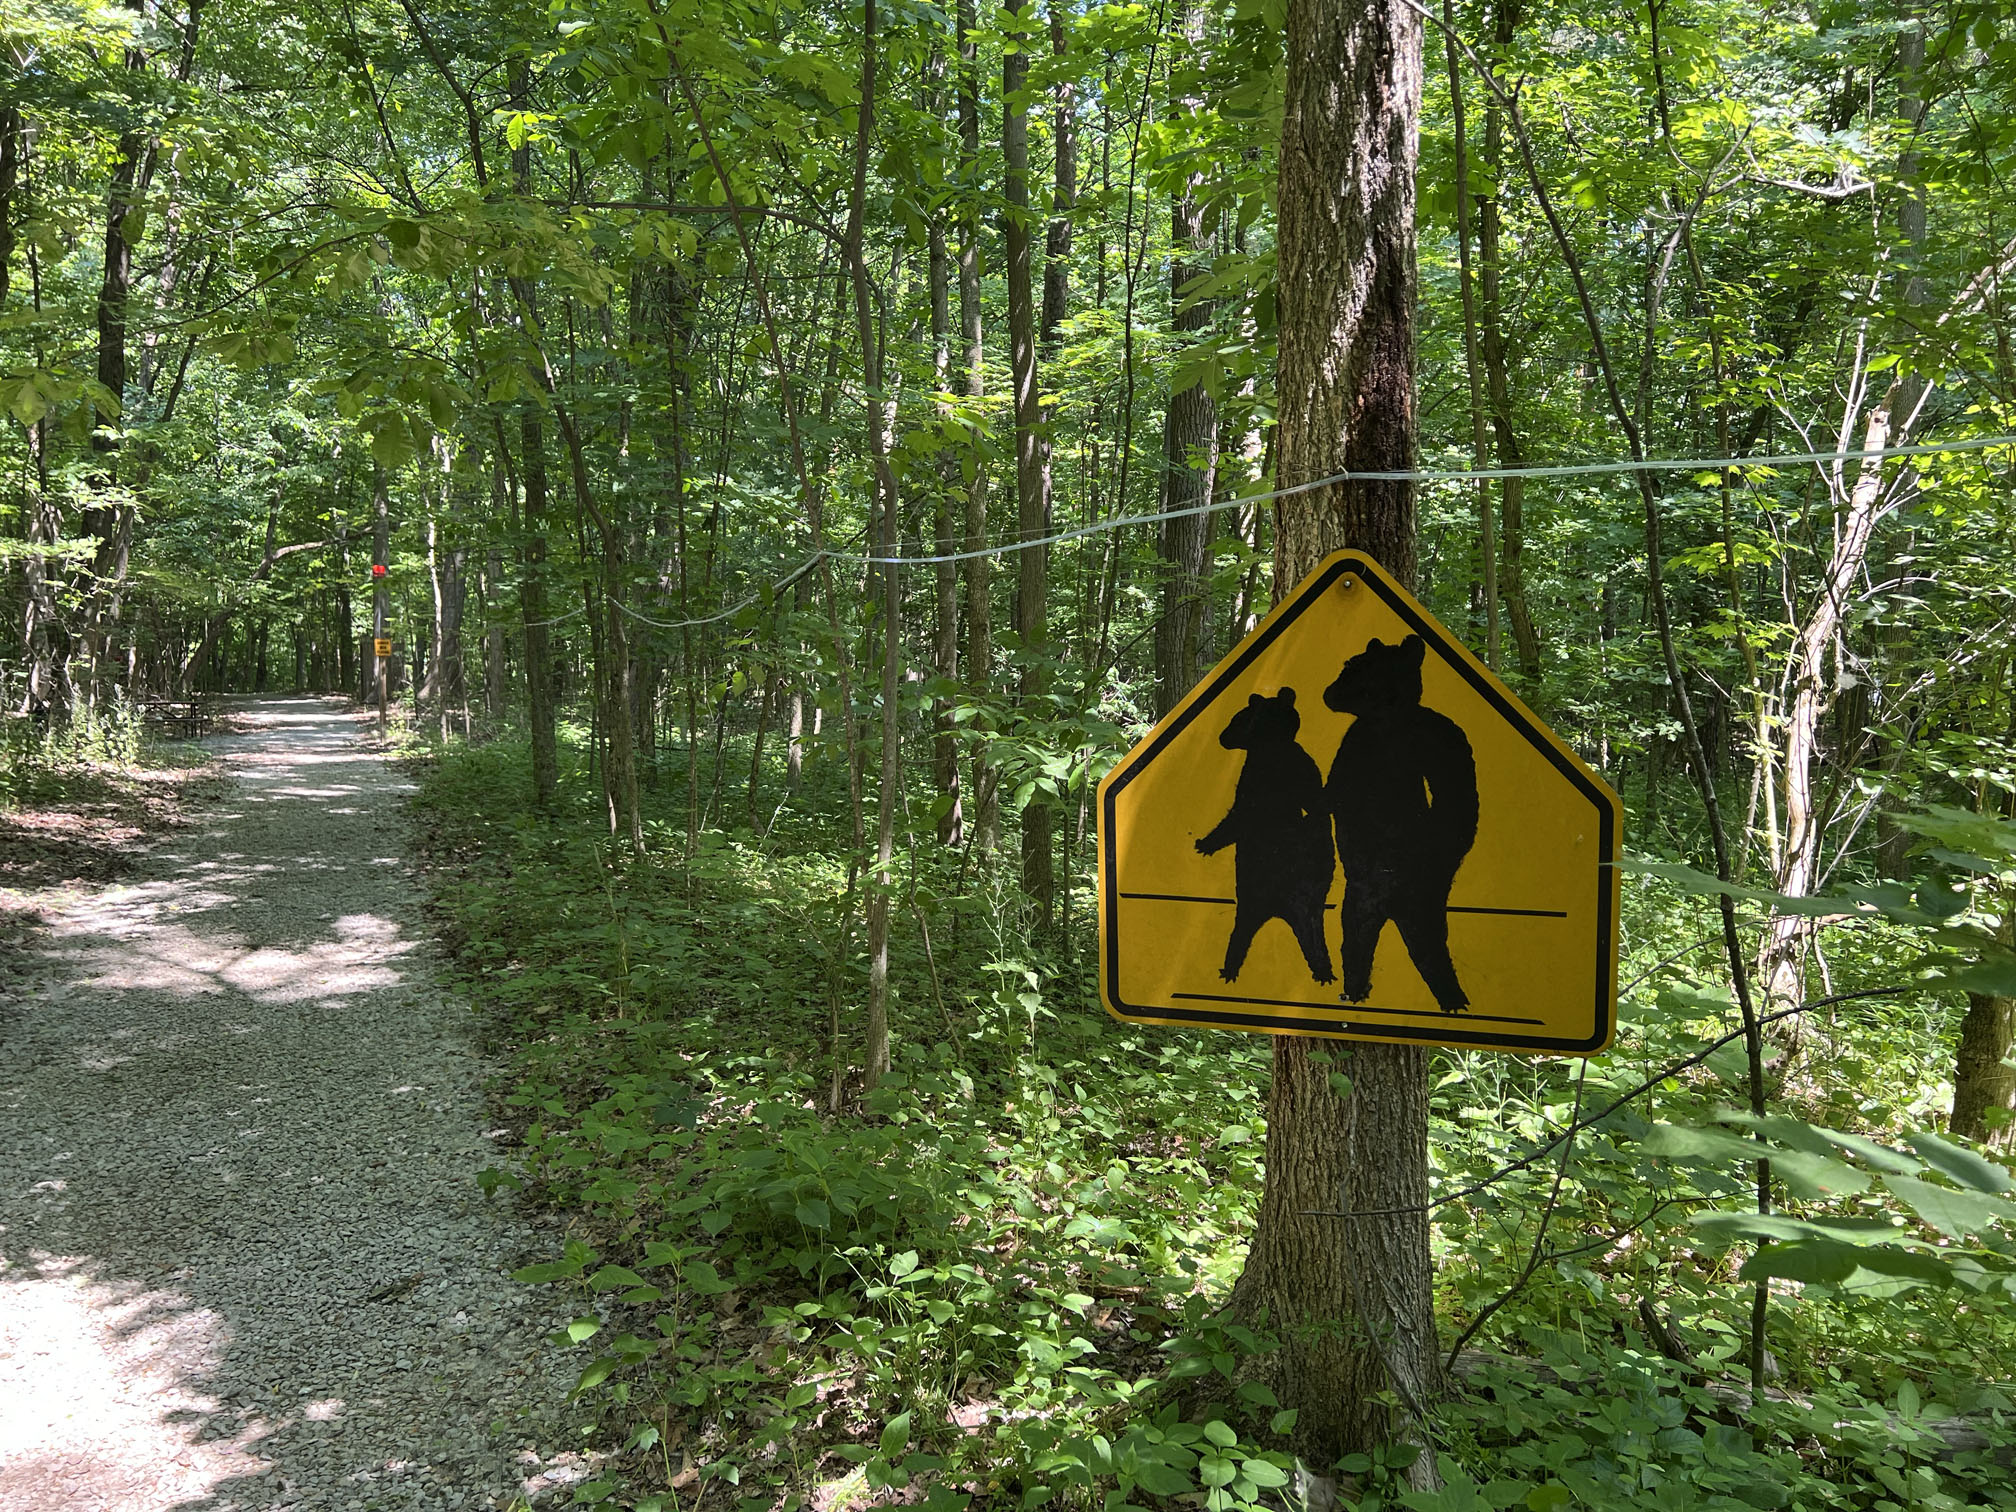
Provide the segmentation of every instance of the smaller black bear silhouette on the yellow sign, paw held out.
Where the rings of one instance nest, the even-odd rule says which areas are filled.
[[[1322,804],[1322,772],[1296,744],[1300,728],[1294,689],[1282,687],[1274,698],[1248,698],[1218,736],[1226,750],[1246,752],[1232,812],[1198,841],[1200,855],[1238,847],[1232,939],[1220,970],[1226,982],[1238,982],[1246,950],[1268,919],[1284,919],[1294,929],[1316,982],[1337,980],[1331,941],[1322,937],[1322,901],[1331,895],[1337,857]]]

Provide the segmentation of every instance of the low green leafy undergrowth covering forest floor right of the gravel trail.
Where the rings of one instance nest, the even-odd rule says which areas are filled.
[[[841,812],[821,778],[804,812]],[[1252,1369],[1272,1341],[1224,1312],[1260,1191],[1264,1040],[1115,1024],[1089,941],[1032,950],[1012,891],[948,857],[899,905],[895,1073],[835,1087],[865,982],[845,837],[788,806],[762,839],[708,831],[681,859],[683,831],[653,823],[649,859],[619,865],[579,768],[548,823],[524,790],[520,746],[458,748],[419,812],[444,933],[508,1048],[520,1161],[482,1181],[564,1218],[564,1254],[522,1280],[577,1298],[554,1347],[623,1450],[581,1500],[1296,1504],[1290,1417]],[[1712,919],[1651,879],[1631,899],[1651,937],[1619,1050],[1437,1056],[1437,1306],[1488,1322],[1425,1425],[1445,1490],[1401,1492],[1415,1450],[1395,1447],[1343,1464],[1355,1504],[2016,1502],[2006,1288],[1780,1282],[1782,1389],[1740,1389],[1742,1252],[1689,1218],[1740,1208],[1748,1177],[1702,1155],[1712,1139],[1655,1135],[1732,1101],[1722,1054],[1661,1075],[1728,1030],[1712,958],[1685,943]],[[1837,976],[1875,980],[1901,950],[1885,927]],[[1883,1075],[1855,1107],[1800,1113],[1923,1127],[1949,1056],[1937,1012],[1877,1000],[1816,1032]]]

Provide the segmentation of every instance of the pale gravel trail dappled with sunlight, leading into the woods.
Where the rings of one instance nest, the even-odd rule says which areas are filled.
[[[238,706],[232,792],[0,998],[0,1512],[564,1502],[550,1258],[433,986],[401,780]]]

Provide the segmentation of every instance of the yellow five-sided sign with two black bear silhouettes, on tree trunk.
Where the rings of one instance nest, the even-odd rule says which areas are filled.
[[[1143,1024],[1593,1054],[1617,794],[1337,552],[1099,788],[1099,986]]]

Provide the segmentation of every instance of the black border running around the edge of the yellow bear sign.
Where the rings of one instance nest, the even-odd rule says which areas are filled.
[[[1534,728],[1532,716],[1526,714],[1520,708],[1514,708],[1514,704],[1504,696],[1504,691],[1500,691],[1500,687],[1492,681],[1492,677],[1488,677],[1484,671],[1480,671],[1476,665],[1472,665],[1470,657],[1466,657],[1456,647],[1456,643],[1447,635],[1443,635],[1441,627],[1437,627],[1433,621],[1429,621],[1421,613],[1421,609],[1411,599],[1405,597],[1403,591],[1399,591],[1395,585],[1385,583],[1385,579],[1381,579],[1377,573],[1365,571],[1365,564],[1359,562],[1359,560],[1353,560],[1351,556],[1347,556],[1343,560],[1337,560],[1337,562],[1331,562],[1331,566],[1318,571],[1312,579],[1308,579],[1306,583],[1302,583],[1302,587],[1296,591],[1294,599],[1290,599],[1286,603],[1286,607],[1282,609],[1282,613],[1276,619],[1272,619],[1268,625],[1264,625],[1260,631],[1254,633],[1252,641],[1240,651],[1238,657],[1234,657],[1230,663],[1226,663],[1226,667],[1212,679],[1212,683],[1202,691],[1202,696],[1187,700],[1183,704],[1181,712],[1167,724],[1167,728],[1163,728],[1161,732],[1157,732],[1149,740],[1149,744],[1139,752],[1139,756],[1133,756],[1127,762],[1127,770],[1115,774],[1109,780],[1105,796],[1101,798],[1101,821],[1105,825],[1105,835],[1109,837],[1109,843],[1101,847],[1101,851],[1103,851],[1103,855],[1101,855],[1101,867],[1103,867],[1101,881],[1105,883],[1105,889],[1103,889],[1103,893],[1105,893],[1105,897],[1103,897],[1103,911],[1105,911],[1103,923],[1105,923],[1105,952],[1107,952],[1105,966],[1107,966],[1107,986],[1109,986],[1107,1006],[1115,1012],[1115,1016],[1127,1018],[1127,1020],[1133,1020],[1133,1022],[1155,1022],[1155,1020],[1177,1022],[1179,1020],[1179,1022],[1193,1022],[1193,1024],[1202,1024],[1202,1026],[1226,1024],[1226,1026],[1236,1026],[1236,1028],[1260,1028],[1260,1030],[1276,1030],[1276,1032],[1280,1032],[1280,1030],[1300,1030],[1304,1034],[1325,1034],[1325,1036],[1331,1036],[1331,1038],[1391,1038],[1391,1040],[1421,1042],[1417,1026],[1413,1026],[1413,1024],[1391,1024],[1391,1026],[1387,1026],[1387,1024],[1381,1024],[1381,1022],[1365,1022],[1365,1018],[1363,1018],[1365,1014],[1375,1014],[1379,1010],[1377,1008],[1357,1006],[1357,1004],[1343,1004],[1343,1002],[1339,1002],[1339,1014],[1343,1014],[1345,1020],[1347,1020],[1347,1022],[1339,1022],[1337,1018],[1296,1018],[1296,1016],[1284,1016],[1284,1014],[1236,1014],[1236,1012],[1224,1012],[1224,1010],[1216,1010],[1216,1008],[1149,1008],[1145,1004],[1121,1002],[1121,996],[1119,996],[1119,980],[1121,980],[1119,901],[1121,901],[1121,889],[1119,889],[1119,859],[1115,855],[1117,847],[1111,843],[1111,837],[1113,837],[1113,825],[1115,825],[1115,816],[1117,816],[1117,804],[1119,804],[1121,788],[1125,788],[1135,778],[1137,772],[1141,772],[1151,760],[1155,760],[1155,756],[1159,756],[1161,750],[1171,740],[1175,740],[1175,736],[1181,734],[1189,726],[1189,722],[1193,718],[1198,718],[1200,714],[1204,714],[1204,710],[1208,710],[1212,704],[1216,704],[1218,698],[1234,681],[1238,681],[1240,673],[1244,673],[1246,667],[1250,667],[1252,661],[1262,651],[1266,651],[1270,645],[1274,645],[1274,641],[1278,641],[1280,635],[1296,619],[1300,619],[1306,609],[1310,609],[1316,601],[1320,601],[1322,595],[1329,593],[1331,585],[1337,583],[1345,575],[1355,577],[1359,583],[1363,583],[1373,593],[1377,593],[1379,601],[1387,609],[1391,609],[1395,615],[1399,615],[1399,619],[1405,621],[1407,627],[1413,629],[1415,635],[1419,635],[1423,641],[1427,641],[1429,645],[1433,645],[1435,653],[1450,667],[1454,667],[1464,677],[1464,681],[1468,681],[1478,694],[1484,696],[1484,702],[1490,704],[1498,712],[1498,718],[1502,718],[1506,724],[1510,724],[1514,730],[1518,730],[1522,736],[1526,736],[1528,744],[1534,750],[1538,750],[1542,756],[1546,756],[1546,760],[1554,766],[1554,770],[1558,770],[1564,778],[1568,778],[1568,784],[1577,792],[1581,792],[1585,798],[1589,798],[1589,802],[1595,804],[1595,808],[1597,808],[1597,857],[1599,857],[1599,865],[1595,867],[1595,871],[1597,871],[1597,939],[1595,939],[1595,948],[1597,948],[1597,1004],[1595,1004],[1595,1032],[1587,1040],[1536,1038],[1536,1036],[1530,1036],[1530,1034],[1466,1032],[1464,1030],[1464,1022],[1466,1020],[1460,1014],[1450,1014],[1447,1018],[1443,1018],[1443,1020],[1439,1020],[1435,1024],[1433,1040],[1431,1042],[1433,1044],[1450,1044],[1450,1046],[1476,1046],[1476,1048],[1484,1048],[1484,1050],[1554,1050],[1554,1052],[1566,1052],[1566,1054],[1579,1054],[1579,1052],[1587,1054],[1591,1050],[1597,1050],[1615,1032],[1613,1018],[1615,1018],[1615,1008],[1617,1008],[1617,996],[1615,996],[1615,984],[1613,984],[1613,974],[1617,970],[1617,960],[1615,960],[1615,956],[1611,952],[1611,939],[1613,939],[1613,933],[1615,933],[1615,921],[1611,917],[1611,913],[1613,913],[1615,875],[1613,875],[1611,867],[1605,865],[1605,863],[1613,863],[1617,859],[1617,810],[1613,808],[1611,796],[1609,796],[1609,792],[1595,778],[1591,778],[1587,772],[1583,772],[1583,768],[1577,766],[1577,762],[1572,762],[1566,756],[1566,752],[1562,752],[1554,744],[1554,740],[1550,736],[1546,736],[1546,734],[1542,734],[1542,730]],[[1415,1028],[1415,1034],[1409,1034],[1407,1032],[1409,1028]]]

